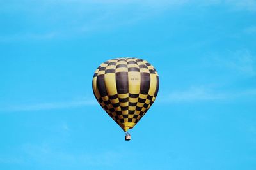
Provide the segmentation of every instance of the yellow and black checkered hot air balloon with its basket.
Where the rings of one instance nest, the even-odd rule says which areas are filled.
[[[93,76],[100,106],[124,130],[132,129],[154,103],[159,89],[156,69],[146,60],[117,58],[100,64]]]

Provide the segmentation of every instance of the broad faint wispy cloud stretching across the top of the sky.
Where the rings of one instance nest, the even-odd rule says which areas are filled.
[[[25,22],[20,18],[20,21],[25,23],[23,29],[25,28],[26,32],[17,31],[10,35],[0,35],[0,42],[41,41],[81,36],[81,34],[86,36],[92,32],[107,31],[108,29],[136,24],[164,11],[182,8],[186,5],[201,6],[201,8],[205,6],[228,6],[228,8],[236,10],[256,11],[256,1],[254,0],[40,0],[36,2],[25,0],[22,2],[12,1],[12,3],[6,1],[1,4],[0,13],[22,14],[27,16],[29,20]],[[129,15],[127,15],[128,13]],[[30,27],[29,25],[35,26]],[[44,33],[36,33],[33,28],[42,29]]]

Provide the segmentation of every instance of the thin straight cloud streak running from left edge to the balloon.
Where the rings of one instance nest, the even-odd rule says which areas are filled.
[[[38,111],[38,110],[56,110],[63,108],[77,108],[83,106],[92,106],[97,104],[95,99],[80,100],[80,101],[63,101],[51,103],[35,103],[35,104],[22,104],[22,105],[9,105],[1,106],[1,112],[14,112],[14,111]]]

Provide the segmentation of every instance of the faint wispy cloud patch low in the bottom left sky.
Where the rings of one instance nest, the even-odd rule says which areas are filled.
[[[0,155],[0,163],[3,164],[43,164],[44,167],[60,166],[76,167],[111,167],[115,166],[118,160],[123,159],[122,153],[106,150],[93,153],[73,153],[56,150],[49,143],[26,143],[21,146],[22,157]],[[127,151],[125,153],[127,155]],[[129,154],[129,153],[128,153]]]

